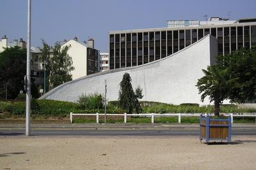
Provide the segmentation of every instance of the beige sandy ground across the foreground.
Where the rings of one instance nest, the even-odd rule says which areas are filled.
[[[256,136],[0,137],[0,169],[256,169]]]

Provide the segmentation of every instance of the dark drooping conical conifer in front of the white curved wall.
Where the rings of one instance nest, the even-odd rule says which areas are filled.
[[[131,114],[132,111],[136,111],[137,113],[141,111],[140,103],[138,98],[134,94],[131,77],[129,73],[124,73],[123,79],[120,82],[120,90],[118,102],[122,109],[125,109],[128,114]]]

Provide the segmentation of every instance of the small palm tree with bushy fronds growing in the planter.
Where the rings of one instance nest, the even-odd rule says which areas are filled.
[[[210,102],[214,101],[214,115],[220,116],[220,105],[228,98],[228,87],[233,80],[228,76],[228,69],[218,65],[208,66],[202,71],[205,75],[196,83],[199,94],[202,93],[201,101],[209,96]]]

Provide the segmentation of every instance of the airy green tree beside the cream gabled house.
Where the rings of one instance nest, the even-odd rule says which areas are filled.
[[[63,84],[64,82],[72,81],[71,71],[74,70],[72,66],[72,58],[68,55],[68,49],[71,45],[61,48],[59,42],[56,42],[53,48],[53,56],[49,59],[49,81],[50,89]]]

